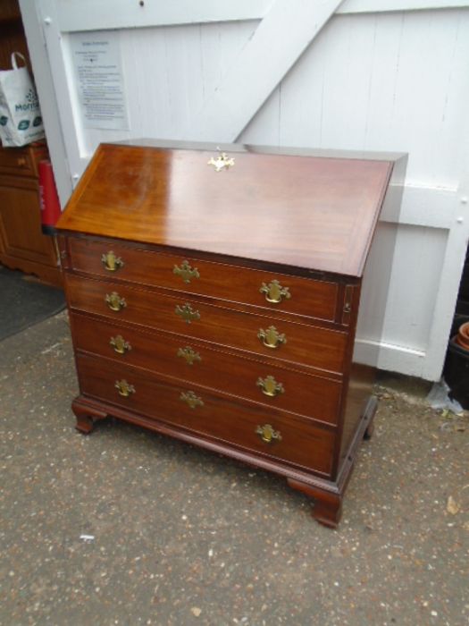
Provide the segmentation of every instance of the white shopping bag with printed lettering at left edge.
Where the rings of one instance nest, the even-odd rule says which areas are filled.
[[[4,147],[25,146],[44,137],[38,95],[26,66],[18,67],[13,52],[12,70],[0,71],[0,139]]]

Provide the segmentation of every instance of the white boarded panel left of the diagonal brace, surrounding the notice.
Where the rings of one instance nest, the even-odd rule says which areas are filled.
[[[194,112],[204,102],[205,92],[213,90],[230,67],[233,58],[246,45],[257,22],[196,24],[128,31],[94,31],[89,35],[63,36],[64,61],[69,69],[73,39],[105,36],[118,41],[128,94],[130,131],[83,129],[76,98],[76,82],[71,80],[75,128],[80,154],[86,161],[102,141],[130,137],[180,137]]]

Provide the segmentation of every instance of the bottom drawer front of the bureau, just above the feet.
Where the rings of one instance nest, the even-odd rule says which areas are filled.
[[[273,459],[331,474],[335,435],[312,422],[274,410],[249,409],[214,394],[194,393],[190,386],[167,385],[149,372],[113,361],[78,355],[77,367],[81,392],[86,395]],[[116,383],[123,385],[122,381],[130,385],[127,397],[115,387]]]

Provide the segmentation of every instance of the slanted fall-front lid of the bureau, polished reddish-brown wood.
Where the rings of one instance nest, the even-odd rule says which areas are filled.
[[[241,150],[241,151],[239,151]],[[359,276],[393,161],[104,144],[58,229]]]

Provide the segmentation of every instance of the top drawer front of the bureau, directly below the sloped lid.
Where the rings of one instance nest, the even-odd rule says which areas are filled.
[[[71,267],[90,275],[159,286],[328,321],[334,321],[336,316],[337,283],[136,250],[106,241],[101,243],[74,238],[69,241]],[[103,261],[103,256],[111,251],[113,256]],[[113,269],[106,269],[106,265]],[[267,298],[280,301],[270,302]]]

